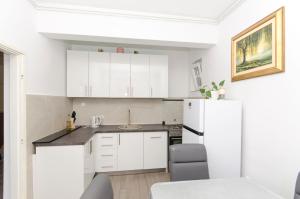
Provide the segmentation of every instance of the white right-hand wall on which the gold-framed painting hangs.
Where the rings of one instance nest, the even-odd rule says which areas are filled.
[[[286,72],[230,82],[231,38],[286,7]],[[293,198],[300,171],[299,2],[247,0],[219,25],[219,42],[203,56],[206,83],[226,79],[227,97],[243,102],[243,175]]]

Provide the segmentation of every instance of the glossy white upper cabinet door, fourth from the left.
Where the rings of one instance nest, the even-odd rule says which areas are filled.
[[[150,97],[149,55],[131,55],[131,97]]]

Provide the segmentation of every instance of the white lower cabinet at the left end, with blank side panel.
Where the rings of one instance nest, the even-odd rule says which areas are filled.
[[[92,145],[37,147],[34,199],[79,199],[95,175]]]

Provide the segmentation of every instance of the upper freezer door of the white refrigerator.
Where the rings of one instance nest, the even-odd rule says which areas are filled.
[[[204,103],[202,99],[185,99],[183,102],[183,124],[201,133],[204,132]]]

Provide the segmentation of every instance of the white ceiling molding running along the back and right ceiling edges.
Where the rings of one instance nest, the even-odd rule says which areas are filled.
[[[200,23],[200,24],[213,24],[220,23],[227,15],[235,10],[245,0],[236,0],[232,5],[224,10],[216,19],[213,18],[200,18],[200,17],[188,17],[181,15],[167,15],[160,13],[149,13],[149,12],[136,12],[128,10],[117,10],[117,9],[105,9],[98,7],[82,6],[82,5],[70,5],[62,3],[53,3],[40,0],[28,0],[37,10],[41,11],[56,11],[56,12],[67,12],[67,13],[79,13],[79,14],[97,14],[104,16],[115,16],[115,17],[129,17],[129,18],[143,18],[151,20],[164,20],[164,21],[175,21],[175,22],[187,22],[187,23]]]

